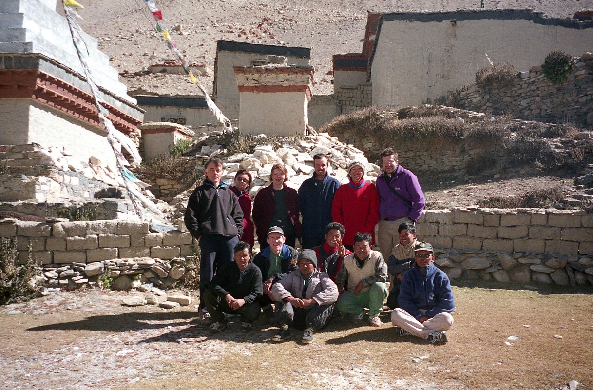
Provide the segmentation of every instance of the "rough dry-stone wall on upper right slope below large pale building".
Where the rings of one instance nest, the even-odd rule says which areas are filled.
[[[576,58],[567,80],[551,84],[541,65],[519,72],[508,87],[471,84],[460,95],[460,107],[495,115],[550,123],[593,125],[593,54]]]

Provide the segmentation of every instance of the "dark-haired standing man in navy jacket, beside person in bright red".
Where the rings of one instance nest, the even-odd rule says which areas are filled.
[[[315,154],[313,177],[302,182],[298,190],[302,215],[302,248],[310,249],[325,241],[324,229],[331,222],[331,202],[340,186],[335,177],[327,173],[327,156]]]

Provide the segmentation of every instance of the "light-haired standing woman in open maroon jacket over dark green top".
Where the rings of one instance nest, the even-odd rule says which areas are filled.
[[[253,202],[253,222],[256,224],[260,249],[266,248],[267,229],[282,227],[285,244],[294,248],[296,239],[301,239],[302,229],[299,215],[298,192],[286,186],[288,171],[283,164],[274,164],[270,175],[272,184],[260,189]]]

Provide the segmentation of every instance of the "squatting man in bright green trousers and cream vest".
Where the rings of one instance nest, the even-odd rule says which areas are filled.
[[[355,234],[354,253],[346,256],[336,276],[340,293],[336,306],[340,312],[355,316],[357,322],[362,321],[364,308],[368,307],[371,326],[381,326],[379,313],[387,298],[387,265],[381,252],[371,250],[371,242],[371,234]]]

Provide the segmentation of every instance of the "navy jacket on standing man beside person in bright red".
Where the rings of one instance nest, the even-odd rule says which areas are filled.
[[[302,236],[323,236],[331,222],[331,203],[340,182],[329,174],[323,180],[313,177],[302,182],[298,190],[302,215]]]

